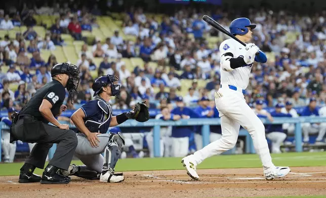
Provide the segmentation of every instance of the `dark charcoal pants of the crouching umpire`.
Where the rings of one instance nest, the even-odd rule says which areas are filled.
[[[23,139],[23,137],[18,137],[23,131],[24,120],[18,120],[15,124],[15,134],[17,138]],[[40,121],[39,121],[40,122]],[[43,123],[42,131],[46,133],[41,139],[29,140],[28,142],[34,143],[29,157],[26,159],[26,163],[34,165],[37,168],[43,169],[45,161],[47,159],[50,148],[53,143],[57,143],[57,149],[54,153],[53,158],[50,160],[49,165],[58,167],[63,170],[68,170],[71,163],[74,151],[77,146],[76,133],[73,130],[64,130],[58,127]],[[41,132],[40,132],[41,133]]]

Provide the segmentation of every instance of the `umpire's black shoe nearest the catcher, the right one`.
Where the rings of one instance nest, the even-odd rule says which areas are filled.
[[[58,174],[58,167],[48,165],[43,172],[40,183],[42,184],[66,184],[70,182],[70,177]]]

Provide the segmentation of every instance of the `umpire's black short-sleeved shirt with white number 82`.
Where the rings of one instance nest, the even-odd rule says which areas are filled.
[[[39,106],[43,99],[52,104],[51,112],[56,117],[59,114],[60,107],[64,101],[66,91],[64,86],[58,80],[53,80],[39,88],[34,96],[30,98],[26,106],[20,111],[20,115],[31,115],[39,121],[49,123],[39,112]]]

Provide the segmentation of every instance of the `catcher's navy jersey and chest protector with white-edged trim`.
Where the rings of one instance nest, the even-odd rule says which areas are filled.
[[[112,119],[112,109],[101,97],[96,97],[83,105],[81,109],[86,115],[85,126],[91,132],[106,133]]]

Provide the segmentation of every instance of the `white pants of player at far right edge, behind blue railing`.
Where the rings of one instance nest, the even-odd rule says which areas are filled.
[[[314,125],[314,126],[312,126]],[[302,133],[303,133],[303,141],[308,142],[309,141],[309,134],[316,134],[318,133],[318,136],[316,138],[316,141],[322,141],[325,133],[326,133],[326,123],[320,123],[319,125],[316,124],[310,124],[310,123],[303,123],[302,124]]]

